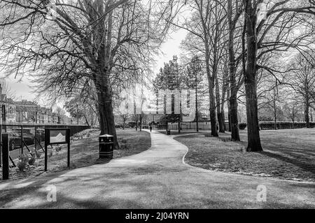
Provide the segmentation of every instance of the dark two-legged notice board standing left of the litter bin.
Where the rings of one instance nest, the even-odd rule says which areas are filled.
[[[54,144],[68,144],[67,166],[70,167],[70,129],[45,129],[45,171],[48,166],[47,148]]]

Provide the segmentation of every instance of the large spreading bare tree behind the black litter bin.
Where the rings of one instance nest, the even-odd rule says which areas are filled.
[[[117,148],[111,80],[121,69],[136,71],[148,62],[167,31],[159,22],[172,17],[172,3],[153,8],[151,1],[149,6],[127,0],[56,1],[49,11],[49,0],[3,0],[1,61],[6,63],[1,66],[15,75],[34,73],[42,92],[55,95],[73,96],[92,81],[101,134],[113,135]]]

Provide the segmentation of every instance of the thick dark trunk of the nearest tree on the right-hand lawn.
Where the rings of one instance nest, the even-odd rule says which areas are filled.
[[[252,0],[244,0],[244,13],[246,15],[246,71],[244,73],[244,84],[246,92],[246,115],[247,115],[247,152],[262,151],[260,144],[258,126],[258,102],[256,85],[256,57],[257,57],[257,36],[255,33],[256,12]],[[243,52],[245,53],[245,52]]]

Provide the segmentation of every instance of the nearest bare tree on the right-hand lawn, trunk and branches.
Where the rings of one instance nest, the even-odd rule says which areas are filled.
[[[267,52],[283,51],[288,48],[299,48],[300,45],[307,46],[307,38],[314,32],[308,29],[307,32],[298,33],[295,38],[288,38],[293,34],[294,27],[307,24],[311,25],[305,17],[315,14],[315,5],[313,0],[305,1],[269,1],[269,8],[266,9],[265,16],[257,16],[258,9],[261,10],[262,0],[243,0],[244,4],[244,43],[243,43],[243,64],[244,64],[244,84],[246,89],[246,114],[248,145],[246,151],[262,151],[260,143],[260,134],[258,127],[258,102],[256,72],[259,68],[257,62],[261,55]],[[304,20],[300,20],[300,15],[304,15]],[[290,18],[290,22],[286,19]],[[259,20],[258,20],[259,19]],[[277,22],[281,23],[279,27]],[[293,22],[293,23],[292,23]],[[286,27],[289,27],[287,29]],[[274,29],[281,33],[281,38],[276,35],[274,41],[270,41],[269,34]],[[259,38],[258,38],[259,36]],[[304,40],[304,41],[303,41]],[[260,53],[258,54],[258,49]],[[246,52],[246,55],[245,55]],[[267,68],[265,68],[267,69]],[[272,70],[267,69],[268,71]]]

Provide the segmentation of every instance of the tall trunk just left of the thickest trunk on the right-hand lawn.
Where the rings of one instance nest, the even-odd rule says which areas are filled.
[[[229,71],[230,71],[230,117],[229,129],[231,131],[231,140],[240,141],[239,139],[239,120],[237,117],[237,82],[236,82],[236,67],[235,67],[235,52],[234,52],[234,33],[235,24],[232,21],[232,0],[228,1],[228,24],[229,24]]]

